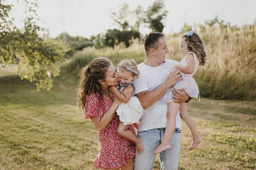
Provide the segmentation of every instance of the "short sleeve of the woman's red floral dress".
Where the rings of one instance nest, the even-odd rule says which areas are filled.
[[[90,117],[102,117],[104,110],[100,107],[100,95],[98,93],[87,95],[85,100],[85,119]]]

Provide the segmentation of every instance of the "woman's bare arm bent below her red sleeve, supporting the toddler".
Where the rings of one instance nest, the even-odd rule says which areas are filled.
[[[121,104],[120,100],[115,97],[111,107],[107,112],[103,114],[103,117],[91,117],[92,123],[94,123],[94,127],[98,131],[103,131],[105,127],[109,124],[109,122],[113,119],[116,109]]]

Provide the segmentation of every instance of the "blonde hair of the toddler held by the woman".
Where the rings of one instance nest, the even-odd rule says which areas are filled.
[[[123,60],[122,62],[119,62],[118,71],[121,71],[121,72],[131,71],[134,79],[138,78],[138,76],[140,75],[140,71],[138,71],[136,61],[133,59]]]

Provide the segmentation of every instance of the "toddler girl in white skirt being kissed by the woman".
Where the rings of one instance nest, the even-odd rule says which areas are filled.
[[[139,71],[134,60],[125,60],[118,64],[118,87],[111,87],[111,92],[123,102],[116,110],[120,123],[118,125],[117,134],[127,138],[136,145],[138,154],[142,151],[142,141],[128,127],[137,123],[143,114],[143,108],[140,101],[134,96],[133,81],[138,78]]]

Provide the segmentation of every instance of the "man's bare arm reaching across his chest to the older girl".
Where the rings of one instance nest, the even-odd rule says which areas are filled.
[[[157,88],[149,91],[145,90],[140,93],[138,93],[136,96],[140,100],[140,104],[142,105],[143,109],[149,108],[149,106],[153,105],[164,95],[164,93],[167,92],[171,86],[173,86],[178,80],[181,80],[181,73],[178,70],[172,71],[169,76],[167,77],[167,80],[158,86]]]

